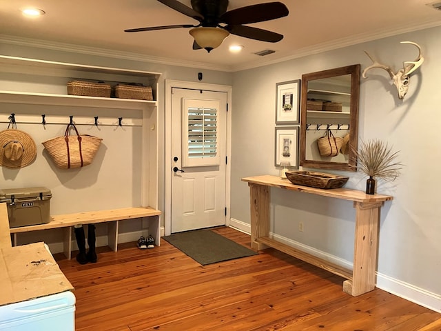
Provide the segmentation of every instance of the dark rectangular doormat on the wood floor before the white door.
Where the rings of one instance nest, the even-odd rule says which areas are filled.
[[[180,232],[163,239],[202,265],[258,254],[211,230]]]

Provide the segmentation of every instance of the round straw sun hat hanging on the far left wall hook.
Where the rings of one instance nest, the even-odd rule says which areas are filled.
[[[0,165],[17,169],[34,162],[37,146],[29,134],[17,129],[0,132]]]

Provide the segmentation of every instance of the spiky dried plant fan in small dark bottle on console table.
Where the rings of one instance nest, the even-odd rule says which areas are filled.
[[[392,148],[379,139],[362,141],[358,150],[353,150],[357,157],[357,168],[367,174],[366,193],[374,194],[375,180],[381,178],[385,181],[394,181],[400,176],[402,163],[396,161],[400,151],[393,152]]]

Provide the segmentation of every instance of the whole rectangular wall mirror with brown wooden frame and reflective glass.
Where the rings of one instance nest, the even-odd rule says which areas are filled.
[[[300,165],[356,171],[359,94],[360,64],[302,75]]]

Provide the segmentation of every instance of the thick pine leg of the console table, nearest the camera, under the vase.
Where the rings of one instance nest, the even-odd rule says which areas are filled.
[[[356,230],[352,281],[343,282],[343,291],[357,297],[375,288],[378,257],[378,223],[382,202],[354,202]]]

